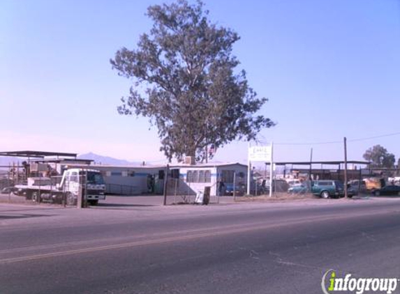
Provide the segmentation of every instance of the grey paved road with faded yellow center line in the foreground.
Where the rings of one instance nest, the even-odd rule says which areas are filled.
[[[1,204],[0,293],[322,293],[329,269],[400,277],[399,233],[400,199]]]

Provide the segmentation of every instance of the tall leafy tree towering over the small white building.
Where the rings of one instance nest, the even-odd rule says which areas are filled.
[[[203,154],[235,139],[256,139],[274,123],[255,115],[267,99],[258,98],[232,55],[239,40],[231,29],[208,20],[201,1],[150,6],[154,22],[136,49],[119,49],[110,62],[133,80],[120,114],[145,116],[158,128],[169,160]]]

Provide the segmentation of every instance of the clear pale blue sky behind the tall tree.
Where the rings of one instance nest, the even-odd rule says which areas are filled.
[[[165,1],[12,1],[0,6],[0,150],[59,150],[160,163],[156,129],[117,114],[130,82],[109,60],[149,31]],[[168,2],[168,1],[167,1]],[[241,36],[234,54],[276,121],[260,141],[276,160],[343,159],[342,144],[302,144],[400,132],[397,0],[205,1],[210,19]],[[348,158],[400,135],[349,141]],[[282,145],[289,143],[292,145]],[[246,161],[232,142],[215,160]]]

